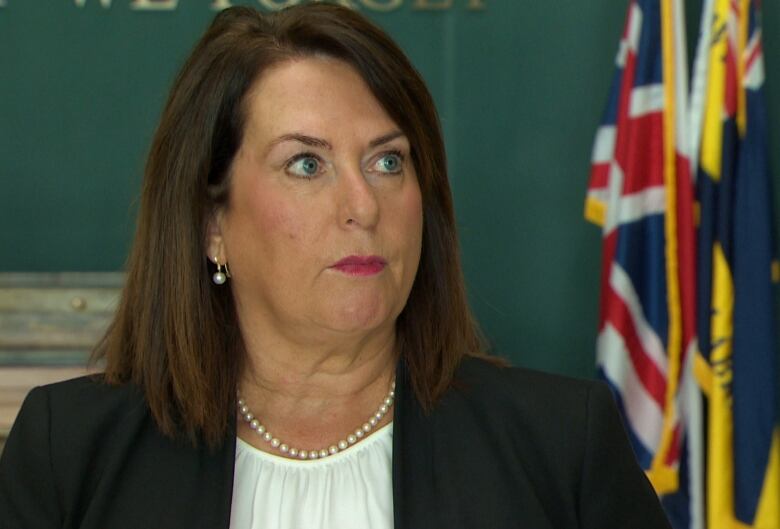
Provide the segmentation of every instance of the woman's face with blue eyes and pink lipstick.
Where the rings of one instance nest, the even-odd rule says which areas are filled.
[[[346,63],[267,71],[247,96],[230,203],[209,228],[244,330],[392,330],[422,241],[409,141]]]

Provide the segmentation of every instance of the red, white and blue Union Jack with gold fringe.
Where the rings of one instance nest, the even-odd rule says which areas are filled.
[[[679,518],[673,525],[690,528],[702,515],[698,482],[688,477],[700,454],[685,435],[700,397],[683,12],[682,0],[629,4],[585,216],[603,237],[599,375],[640,465]]]

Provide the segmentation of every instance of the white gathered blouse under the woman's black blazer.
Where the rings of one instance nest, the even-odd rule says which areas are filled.
[[[393,423],[314,461],[236,439],[231,529],[392,529]]]

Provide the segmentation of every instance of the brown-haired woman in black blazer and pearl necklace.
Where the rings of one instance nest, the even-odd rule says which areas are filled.
[[[105,374],[25,401],[3,527],[668,527],[608,390],[483,353],[433,102],[352,11],[216,17],[128,268]]]

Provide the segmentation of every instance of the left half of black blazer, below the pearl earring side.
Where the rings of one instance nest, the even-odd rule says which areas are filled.
[[[12,527],[222,526],[228,440],[209,450],[166,437],[132,384],[89,376],[37,387],[0,457],[0,518],[19,521]]]

